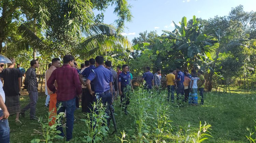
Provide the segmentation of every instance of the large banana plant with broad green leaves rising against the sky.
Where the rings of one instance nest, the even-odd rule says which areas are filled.
[[[163,31],[169,34],[169,38],[174,42],[174,49],[176,50],[176,61],[182,62],[187,68],[190,65],[194,68],[198,59],[202,56],[205,58],[211,58],[210,46],[212,46],[217,41],[212,37],[208,36],[212,32],[211,28],[207,31],[202,31],[202,25],[196,20],[196,16],[193,16],[193,24],[187,24],[187,18],[183,17],[180,25],[175,25],[175,30],[173,32]]]

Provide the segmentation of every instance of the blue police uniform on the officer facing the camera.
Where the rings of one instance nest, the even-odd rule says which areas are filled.
[[[125,107],[125,112],[127,109],[127,105],[130,103],[130,94],[129,91],[131,90],[131,75],[130,72],[121,72],[118,76],[118,83],[121,83],[121,91],[122,95],[120,95],[121,103],[125,102],[122,104],[123,107]]]

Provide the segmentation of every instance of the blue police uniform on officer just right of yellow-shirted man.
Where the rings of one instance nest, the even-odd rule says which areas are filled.
[[[177,73],[177,79],[181,79],[181,81],[177,81],[177,89],[176,89],[176,93],[177,93],[177,100],[179,101],[180,100],[180,96],[184,96],[184,85],[183,85],[183,82],[184,82],[184,73],[183,72],[178,72]],[[181,98],[182,99],[182,102],[185,101],[184,98]]]

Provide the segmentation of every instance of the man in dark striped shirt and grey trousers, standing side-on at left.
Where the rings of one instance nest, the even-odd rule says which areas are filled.
[[[25,111],[30,109],[30,120],[38,120],[35,116],[35,107],[38,101],[38,83],[37,83],[37,75],[35,74],[35,69],[39,68],[39,63],[37,60],[33,59],[30,61],[30,68],[26,71],[26,78],[24,81],[24,85],[27,86],[27,91],[29,94],[29,104],[21,110],[21,114],[25,117]]]

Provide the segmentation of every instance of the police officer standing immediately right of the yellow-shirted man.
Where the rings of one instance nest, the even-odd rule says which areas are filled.
[[[176,93],[177,93],[177,101],[179,102],[179,100],[182,100],[181,102],[183,103],[185,101],[184,96],[184,73],[181,71],[181,67],[177,66],[176,67],[176,71],[177,71],[177,80],[175,80],[174,82],[177,83],[177,89],[176,89]],[[181,104],[179,102],[179,104]]]

